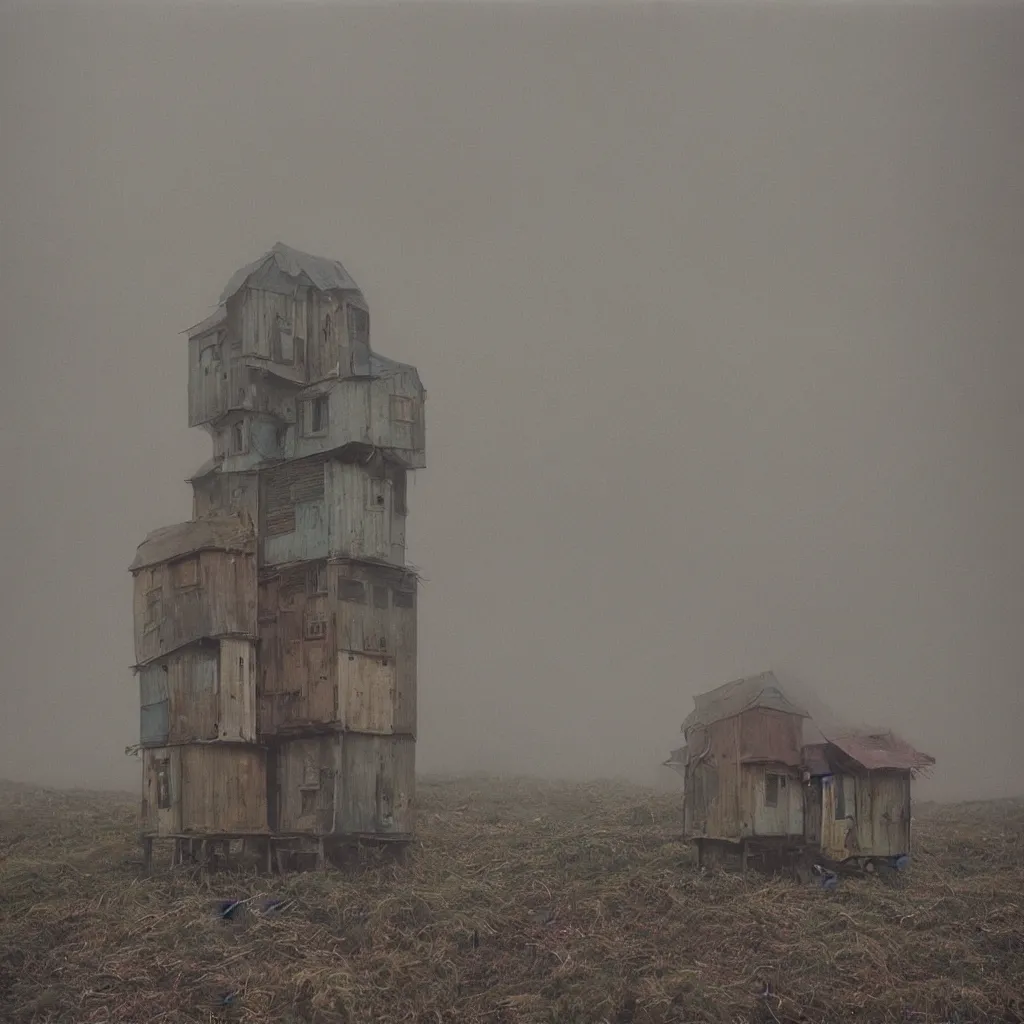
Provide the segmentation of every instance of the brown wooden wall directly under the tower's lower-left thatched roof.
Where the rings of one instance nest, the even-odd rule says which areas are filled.
[[[139,569],[135,660],[145,665],[206,637],[256,636],[256,558],[203,551]]]

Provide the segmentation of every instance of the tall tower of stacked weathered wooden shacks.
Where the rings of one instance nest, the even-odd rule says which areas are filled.
[[[281,244],[188,332],[213,458],[131,566],[148,844],[411,838],[424,400],[345,268]]]

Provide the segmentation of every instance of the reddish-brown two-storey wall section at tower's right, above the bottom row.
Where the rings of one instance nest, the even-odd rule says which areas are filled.
[[[317,561],[264,570],[260,730],[416,731],[416,579]]]

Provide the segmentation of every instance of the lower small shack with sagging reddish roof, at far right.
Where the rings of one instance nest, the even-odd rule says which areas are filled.
[[[910,856],[910,783],[935,764],[892,732],[837,734],[804,749],[808,844],[873,870]]]

